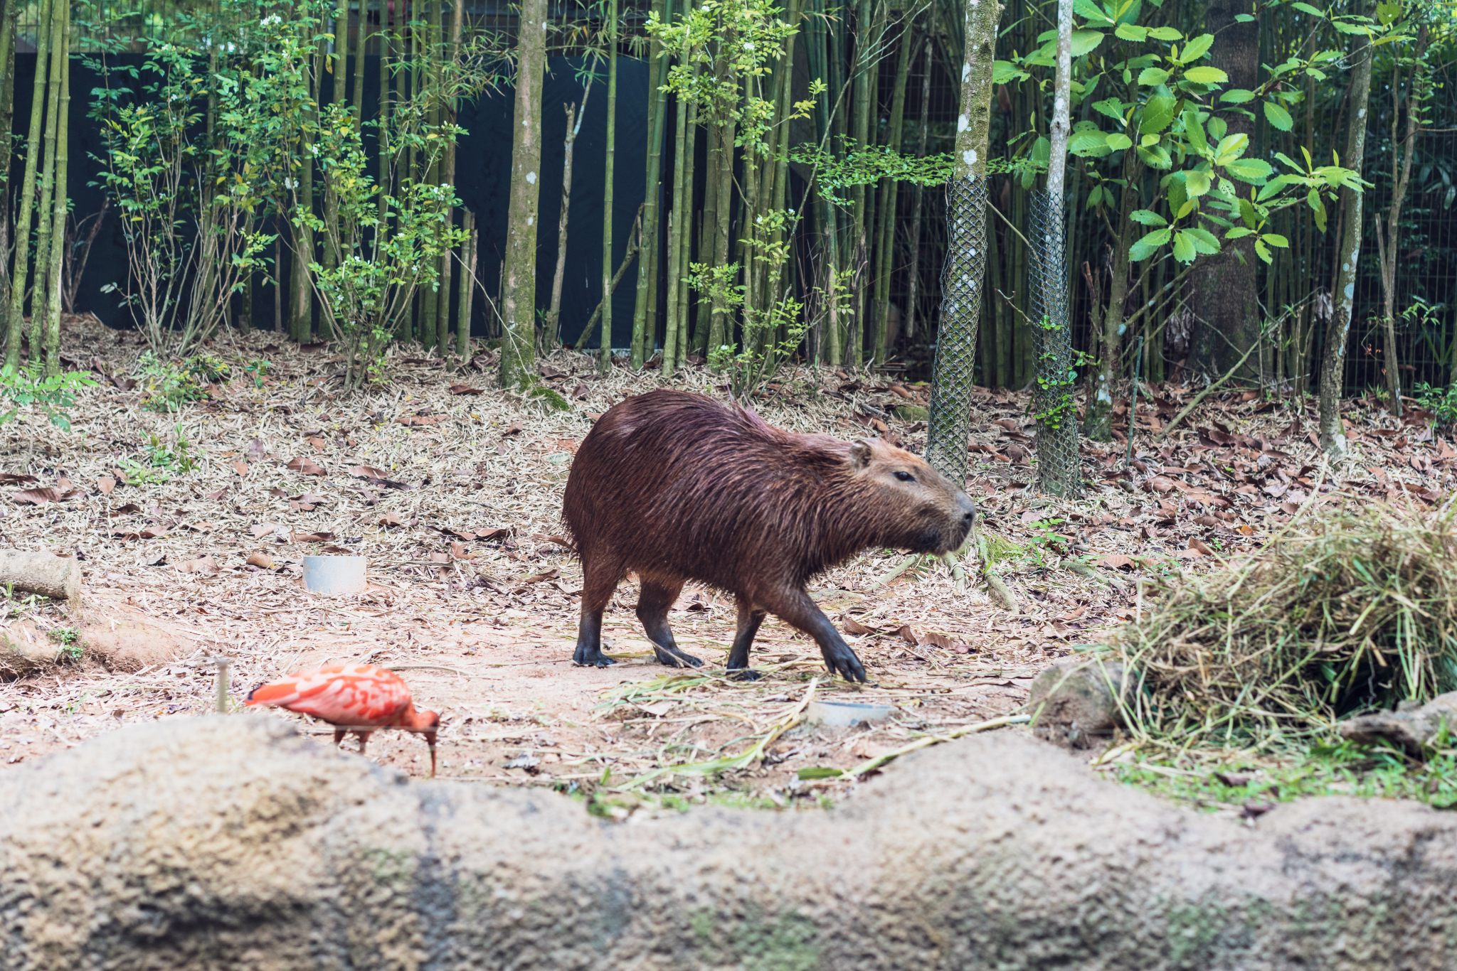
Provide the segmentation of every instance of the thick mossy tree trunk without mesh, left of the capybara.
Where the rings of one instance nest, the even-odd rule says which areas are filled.
[[[511,115],[511,197],[506,215],[506,285],[501,291],[503,387],[532,383],[536,364],[536,214],[542,163],[542,80],[546,67],[546,0],[522,0]]]

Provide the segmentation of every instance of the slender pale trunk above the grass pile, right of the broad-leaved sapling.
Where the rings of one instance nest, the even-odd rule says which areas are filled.
[[[1364,15],[1367,3],[1356,3],[1352,13]],[[1359,52],[1351,70],[1349,128],[1340,163],[1361,176],[1365,156],[1367,105],[1371,100],[1371,48],[1358,41]],[[1326,346],[1320,361],[1320,447],[1332,459],[1346,454],[1346,431],[1340,425],[1340,386],[1345,381],[1346,338],[1351,335],[1351,309],[1356,296],[1356,261],[1361,259],[1361,192],[1340,189],[1340,271],[1336,274],[1335,307],[1326,325]]]

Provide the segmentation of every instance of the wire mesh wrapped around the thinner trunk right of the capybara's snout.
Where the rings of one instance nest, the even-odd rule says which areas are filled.
[[[1037,419],[1037,488],[1049,495],[1075,498],[1083,492],[1078,475],[1078,422],[1072,386],[1072,328],[1069,322],[1067,218],[1062,199],[1046,191],[1032,192],[1032,246],[1027,253],[1027,288],[1032,297],[1032,335],[1037,354],[1037,383],[1032,412]]]

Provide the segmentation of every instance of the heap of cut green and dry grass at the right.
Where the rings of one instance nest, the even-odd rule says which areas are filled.
[[[1134,673],[1142,747],[1275,751],[1338,718],[1457,689],[1457,526],[1448,507],[1297,515],[1249,560],[1167,581],[1101,657]]]

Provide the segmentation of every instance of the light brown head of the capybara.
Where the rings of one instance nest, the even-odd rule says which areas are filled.
[[[873,492],[877,514],[884,515],[880,526],[886,546],[947,553],[966,542],[976,507],[919,456],[880,438],[861,438],[849,447],[849,467]]]

